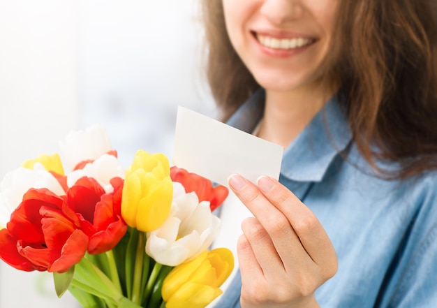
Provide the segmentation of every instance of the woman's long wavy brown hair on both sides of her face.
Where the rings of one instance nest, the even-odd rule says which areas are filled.
[[[224,118],[260,87],[233,49],[222,0],[201,0],[206,73]],[[437,1],[340,0],[325,78],[341,85],[355,143],[396,178],[437,168]],[[377,150],[376,150],[377,149]]]

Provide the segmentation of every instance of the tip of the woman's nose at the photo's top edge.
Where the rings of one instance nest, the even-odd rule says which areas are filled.
[[[273,24],[285,24],[304,15],[304,8],[295,0],[266,0],[260,13]]]

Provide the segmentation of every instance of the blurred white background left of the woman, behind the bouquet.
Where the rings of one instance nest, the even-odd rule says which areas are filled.
[[[171,160],[177,105],[214,117],[197,0],[0,0],[0,177],[102,124],[128,166]],[[52,276],[0,261],[0,308],[77,307]]]

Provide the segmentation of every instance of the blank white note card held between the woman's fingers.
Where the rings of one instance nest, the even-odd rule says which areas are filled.
[[[238,173],[251,182],[279,179],[283,147],[179,106],[172,163],[228,186]]]

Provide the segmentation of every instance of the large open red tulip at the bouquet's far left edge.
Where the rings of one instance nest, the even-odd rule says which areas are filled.
[[[0,258],[25,271],[65,272],[78,263],[88,237],[63,210],[68,210],[64,198],[47,189],[29,189],[0,232]]]

